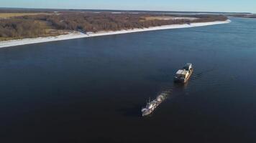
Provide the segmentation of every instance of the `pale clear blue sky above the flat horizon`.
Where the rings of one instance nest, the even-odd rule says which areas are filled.
[[[256,13],[256,0],[0,0],[0,7]]]

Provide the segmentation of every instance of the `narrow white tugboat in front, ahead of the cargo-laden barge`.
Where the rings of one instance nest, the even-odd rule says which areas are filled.
[[[156,99],[147,102],[147,106],[142,108],[142,117],[151,114],[168,96],[170,92],[163,92]]]

